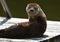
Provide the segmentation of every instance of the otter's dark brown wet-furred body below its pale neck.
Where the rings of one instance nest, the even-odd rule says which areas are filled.
[[[9,28],[0,30],[0,37],[1,38],[40,37],[46,31],[46,27],[47,27],[46,17],[36,15],[33,19],[29,18],[29,22],[18,23],[18,25],[13,25]]]

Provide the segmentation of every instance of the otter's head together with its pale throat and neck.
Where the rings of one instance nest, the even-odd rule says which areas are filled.
[[[29,3],[26,7],[26,12],[28,16],[34,18],[34,16],[46,17],[41,7],[37,3]]]

